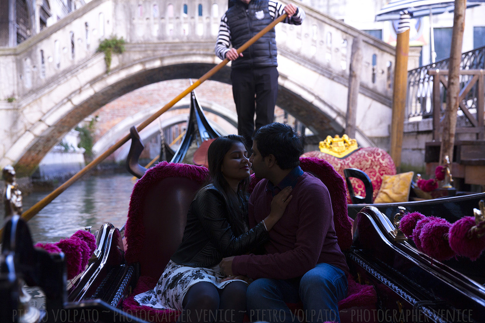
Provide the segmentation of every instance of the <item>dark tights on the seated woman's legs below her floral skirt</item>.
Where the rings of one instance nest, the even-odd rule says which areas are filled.
[[[242,322],[246,287],[242,281],[233,281],[223,290],[207,281],[194,284],[185,294],[178,322]]]

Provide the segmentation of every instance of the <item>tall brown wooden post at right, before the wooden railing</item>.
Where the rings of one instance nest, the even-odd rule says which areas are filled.
[[[449,61],[448,91],[446,92],[446,109],[443,120],[443,136],[439,154],[439,164],[443,164],[444,156],[450,156],[453,165],[453,146],[456,133],[456,113],[458,112],[460,93],[460,63],[463,31],[465,29],[465,9],[467,0],[455,0],[453,16],[453,33]],[[450,169],[451,170],[451,169]]]

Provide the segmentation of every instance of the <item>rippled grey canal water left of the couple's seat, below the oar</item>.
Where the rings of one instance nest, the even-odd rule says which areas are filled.
[[[94,233],[104,222],[119,229],[126,222],[129,197],[135,181],[130,174],[85,176],[69,186],[27,223],[32,239],[57,242],[85,226]],[[24,211],[50,192],[32,192],[24,196]],[[2,207],[3,209],[3,207]],[[3,210],[0,219],[3,224]]]

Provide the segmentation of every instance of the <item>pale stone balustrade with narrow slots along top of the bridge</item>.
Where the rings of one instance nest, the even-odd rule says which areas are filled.
[[[350,49],[360,35],[364,44],[361,92],[390,105],[393,47],[298,5],[307,13],[304,24],[276,27],[280,54],[346,84]],[[200,42],[213,46],[226,8],[227,0],[92,0],[20,45],[0,48],[0,100],[22,101],[65,73],[89,64],[100,40],[110,35],[131,44]]]

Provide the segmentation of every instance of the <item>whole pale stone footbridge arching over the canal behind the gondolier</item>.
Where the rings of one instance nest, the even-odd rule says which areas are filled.
[[[351,46],[360,36],[356,138],[379,146],[389,136],[394,48],[299,5],[307,13],[302,26],[276,26],[277,105],[319,137],[341,133]],[[226,8],[227,0],[92,0],[18,46],[0,48],[0,166],[29,175],[71,128],[117,97],[202,76],[220,62],[213,47]],[[107,73],[97,47],[111,35],[127,44]],[[230,83],[229,73],[226,66],[211,79]]]

